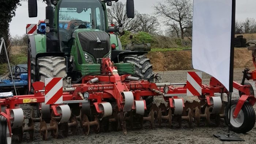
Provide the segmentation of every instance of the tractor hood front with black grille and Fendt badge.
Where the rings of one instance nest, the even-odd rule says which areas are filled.
[[[97,29],[77,29],[74,32],[83,52],[94,57],[103,58],[110,52],[110,37],[105,31]],[[74,35],[73,35],[74,36]]]

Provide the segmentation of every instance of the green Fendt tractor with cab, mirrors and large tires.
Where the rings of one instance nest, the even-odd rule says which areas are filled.
[[[79,83],[84,64],[100,64],[109,57],[114,63],[135,65],[134,75],[154,76],[146,51],[123,50],[117,33],[122,27],[109,28],[106,5],[118,0],[43,0],[45,25],[28,42],[29,92],[31,84],[48,77],[63,77]],[[37,0],[28,0],[29,17],[37,17]],[[127,17],[134,18],[134,1],[127,0]],[[42,31],[43,30],[43,31]],[[112,33],[112,34],[110,34]]]

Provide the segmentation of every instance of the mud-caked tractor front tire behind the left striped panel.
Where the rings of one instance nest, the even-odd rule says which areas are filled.
[[[62,77],[63,86],[67,85],[67,69],[64,57],[40,57],[37,59],[37,81],[45,82],[45,78]],[[39,103],[37,103],[37,116],[40,117]]]

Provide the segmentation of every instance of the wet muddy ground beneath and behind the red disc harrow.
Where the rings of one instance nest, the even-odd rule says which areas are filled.
[[[242,68],[236,68],[234,70],[234,80],[241,82],[242,78]],[[162,73],[163,80],[171,83],[181,83],[186,82],[187,70],[180,71],[165,71],[165,72],[156,72]],[[209,83],[210,76],[203,73],[203,83]],[[253,88],[255,89],[255,83],[251,82]],[[256,90],[256,89],[255,89]],[[238,98],[238,91],[234,91],[234,99]],[[192,101],[193,97],[187,97],[185,100]],[[155,98],[155,102],[159,105],[160,102],[163,102],[161,97]],[[25,116],[29,117],[29,113],[33,106],[23,105],[22,106]],[[254,106],[256,109],[256,106]],[[27,122],[27,121],[26,121]],[[42,137],[38,133],[39,124],[36,124],[35,128],[35,140],[29,141],[29,135],[24,134],[24,139],[22,144],[82,144],[82,143],[255,143],[256,141],[256,127],[246,134],[237,134],[237,136],[244,139],[244,142],[223,142],[215,138],[212,134],[225,134],[227,132],[227,126],[225,125],[224,120],[221,120],[221,124],[216,127],[214,120],[211,121],[211,126],[204,126],[204,121],[201,121],[200,128],[197,128],[193,123],[192,128],[188,127],[187,122],[182,123],[182,128],[177,128],[177,123],[173,124],[173,128],[169,128],[168,124],[162,124],[161,128],[158,128],[156,124],[154,129],[150,128],[150,124],[146,123],[144,129],[141,130],[138,128],[128,129],[127,135],[125,136],[120,130],[115,132],[110,129],[110,132],[100,132],[98,134],[90,131],[89,136],[85,136],[82,132],[82,129],[79,129],[78,135],[69,134],[67,138],[62,137],[59,134],[58,139],[54,139],[48,133],[48,140],[43,141]],[[234,134],[232,132],[232,134]],[[13,143],[18,143],[18,138],[13,137]]]

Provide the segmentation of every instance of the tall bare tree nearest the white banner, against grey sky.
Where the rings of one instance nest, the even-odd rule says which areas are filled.
[[[184,39],[185,29],[191,29],[193,4],[191,0],[165,0],[154,5],[155,14],[162,16],[165,25],[178,24],[181,38]]]

